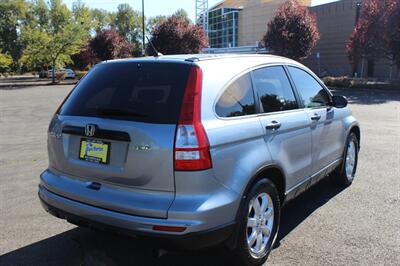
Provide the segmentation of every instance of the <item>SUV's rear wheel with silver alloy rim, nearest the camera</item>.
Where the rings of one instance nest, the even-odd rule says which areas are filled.
[[[243,200],[245,202],[242,205],[244,207],[241,210],[239,218],[237,246],[233,250],[234,262],[242,266],[262,265],[267,260],[278,235],[281,214],[279,194],[275,185],[270,180],[262,179],[253,185],[247,197]],[[264,213],[262,219],[253,218],[257,217],[254,208],[257,208],[257,206],[261,207],[260,213]],[[263,212],[264,208],[265,212]],[[270,232],[269,237],[267,237],[268,231]],[[260,238],[260,233],[258,232],[261,233]],[[252,237],[254,235],[257,236],[255,240]],[[255,242],[249,244],[248,239],[251,239],[251,242]],[[261,245],[257,243],[260,239],[262,239]],[[257,249],[259,250],[257,251]]]

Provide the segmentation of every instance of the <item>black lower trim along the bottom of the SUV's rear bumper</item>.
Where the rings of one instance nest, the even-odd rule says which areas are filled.
[[[93,213],[93,216],[90,218],[77,216],[75,214],[61,210],[55,206],[50,205],[47,201],[45,201],[45,199],[42,198],[42,197],[49,196],[49,193],[51,193],[51,192],[48,192],[48,191],[46,192],[45,189],[43,190],[42,188],[39,188],[39,199],[40,199],[40,202],[41,202],[43,208],[48,213],[50,213],[51,215],[53,215],[57,218],[65,219],[68,222],[75,224],[75,225],[79,225],[79,226],[96,228],[96,229],[100,229],[100,230],[111,230],[111,231],[122,233],[125,235],[143,236],[143,237],[146,237],[149,239],[157,239],[157,241],[161,240],[161,243],[163,243],[163,242],[166,242],[168,244],[172,243],[176,246],[179,246],[181,248],[186,248],[186,249],[200,249],[200,248],[220,244],[223,241],[225,241],[226,239],[228,239],[235,229],[235,224],[231,223],[231,224],[220,226],[218,228],[213,228],[213,229],[202,231],[202,232],[195,232],[195,233],[189,233],[189,234],[183,234],[183,235],[145,232],[145,231],[135,229],[134,225],[136,224],[136,222],[132,222],[133,217],[130,217],[131,219],[129,219],[129,221],[131,221],[131,222],[129,222],[129,224],[125,224],[126,226],[116,226],[115,221],[113,221],[112,223],[104,222],[104,216],[103,215],[99,216],[99,213],[101,213],[101,210],[97,210],[96,215]],[[48,197],[47,197],[47,199],[48,199]],[[96,208],[94,208],[94,209],[96,209]],[[94,210],[92,210],[92,211],[94,211]],[[113,215],[115,215],[115,214],[113,214]],[[129,216],[129,215],[127,215],[127,216]],[[128,219],[129,217],[125,217],[125,218]],[[110,219],[110,217],[108,217],[108,220],[109,219]],[[118,219],[118,221],[122,222],[119,219]]]

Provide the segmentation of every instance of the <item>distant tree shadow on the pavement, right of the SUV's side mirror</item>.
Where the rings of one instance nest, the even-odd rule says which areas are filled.
[[[400,101],[399,90],[373,90],[373,89],[334,89],[334,95],[343,95],[350,104],[383,104],[391,101]]]

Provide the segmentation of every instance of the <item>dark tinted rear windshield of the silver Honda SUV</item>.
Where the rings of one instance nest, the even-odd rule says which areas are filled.
[[[60,115],[175,124],[190,65],[115,62],[94,67],[60,109]]]

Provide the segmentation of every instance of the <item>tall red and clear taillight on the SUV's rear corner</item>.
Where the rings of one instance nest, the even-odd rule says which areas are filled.
[[[201,123],[203,72],[192,67],[183,97],[175,137],[175,170],[195,171],[212,167],[207,134]]]

